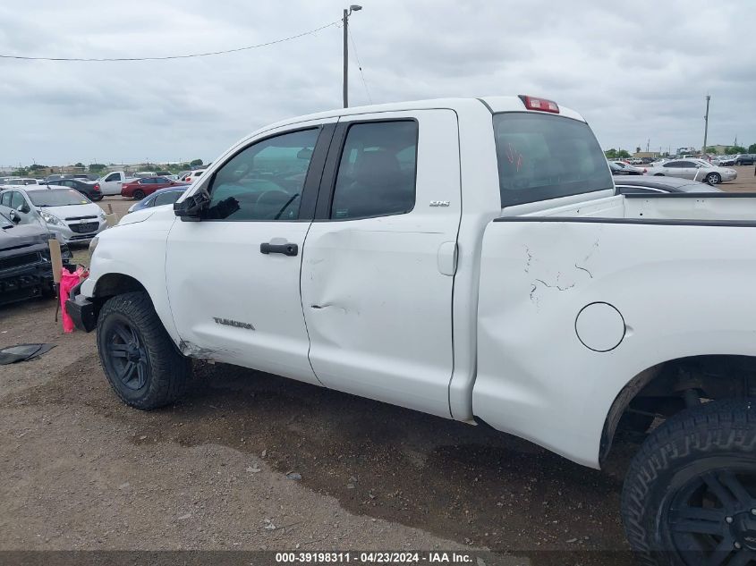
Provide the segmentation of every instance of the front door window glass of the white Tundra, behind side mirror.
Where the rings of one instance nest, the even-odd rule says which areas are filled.
[[[318,135],[317,128],[293,131],[236,154],[214,174],[207,217],[296,220]]]

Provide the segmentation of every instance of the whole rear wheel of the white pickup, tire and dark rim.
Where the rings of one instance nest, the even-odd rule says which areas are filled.
[[[654,430],[622,516],[642,563],[756,563],[756,399],[711,401]]]

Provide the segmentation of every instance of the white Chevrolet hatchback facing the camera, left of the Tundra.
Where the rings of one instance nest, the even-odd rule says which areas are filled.
[[[15,187],[0,191],[0,205],[13,208],[19,224],[34,224],[53,232],[63,243],[85,243],[106,229],[102,208],[78,190],[55,187]]]

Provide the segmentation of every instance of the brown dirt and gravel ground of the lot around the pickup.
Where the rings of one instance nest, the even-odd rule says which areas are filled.
[[[756,190],[739,169],[723,188]],[[56,344],[0,367],[0,550],[475,548],[533,564],[580,550],[582,563],[630,563],[615,552],[629,440],[598,472],[483,427],[200,363],[183,401],[144,413],[111,393],[94,336],[63,334],[54,316],[49,300],[0,307],[0,346]]]

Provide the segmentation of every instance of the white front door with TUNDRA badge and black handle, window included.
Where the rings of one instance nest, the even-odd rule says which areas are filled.
[[[206,214],[176,220],[167,242],[168,294],[184,351],[318,383],[307,359],[300,271],[333,129],[269,132],[208,170]]]

